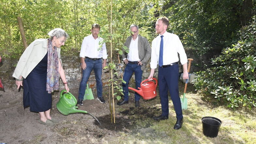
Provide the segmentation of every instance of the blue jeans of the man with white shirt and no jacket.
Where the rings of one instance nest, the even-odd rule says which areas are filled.
[[[91,74],[91,71],[94,71],[95,78],[96,78],[96,86],[97,86],[97,96],[98,98],[102,97],[102,60],[92,60],[92,59],[85,59],[86,69],[83,70],[82,80],[79,85],[79,95],[78,100],[84,100],[85,89],[87,85],[87,81]]]

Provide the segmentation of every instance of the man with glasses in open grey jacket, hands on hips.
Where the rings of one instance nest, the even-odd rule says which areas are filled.
[[[125,52],[125,49],[122,49],[122,58],[124,63],[126,64],[123,74],[123,80],[126,83],[122,83],[124,100],[122,102],[118,102],[118,105],[127,104],[129,102],[128,85],[133,75],[133,72],[135,73],[136,89],[140,87],[142,72],[146,66],[146,63],[151,57],[150,44],[146,38],[138,35],[139,27],[136,24],[132,24],[130,26],[130,30],[131,36],[129,36],[124,43],[124,46],[129,49],[129,53],[127,54]],[[135,93],[136,107],[139,107],[139,100],[140,95],[138,93]]]

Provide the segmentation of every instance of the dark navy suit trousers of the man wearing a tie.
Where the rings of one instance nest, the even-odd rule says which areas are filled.
[[[170,97],[174,105],[177,120],[183,119],[181,100],[179,96],[179,65],[173,65],[167,68],[158,68],[158,84],[159,84],[159,95],[162,105],[162,115],[169,115],[169,99],[168,90],[170,92]]]

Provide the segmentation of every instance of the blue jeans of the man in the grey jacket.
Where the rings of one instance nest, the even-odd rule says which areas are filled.
[[[133,72],[135,73],[136,89],[138,89],[138,87],[140,87],[141,77],[142,77],[141,66],[138,65],[138,63],[135,63],[135,64],[128,63],[124,69],[124,74],[123,74],[123,80],[126,82],[126,84],[122,83],[125,101],[129,100],[128,85],[129,85],[129,81],[133,75]],[[139,101],[139,99],[140,99],[140,95],[138,93],[135,93],[135,101]]]

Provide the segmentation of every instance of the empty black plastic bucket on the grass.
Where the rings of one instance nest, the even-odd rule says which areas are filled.
[[[216,137],[219,133],[221,120],[214,117],[203,117],[203,134],[208,137]]]

